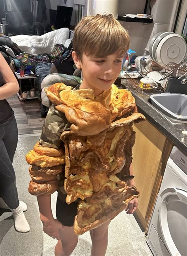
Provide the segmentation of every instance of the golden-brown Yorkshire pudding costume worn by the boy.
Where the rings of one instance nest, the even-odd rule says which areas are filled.
[[[70,204],[79,200],[75,234],[97,228],[139,197],[129,167],[135,143],[133,122],[144,121],[137,113],[131,92],[112,85],[94,95],[92,89],[75,90],[56,83],[46,90],[54,104],[49,109],[40,141],[28,152],[29,192],[52,194],[58,190]],[[65,164],[65,165],[64,165]]]

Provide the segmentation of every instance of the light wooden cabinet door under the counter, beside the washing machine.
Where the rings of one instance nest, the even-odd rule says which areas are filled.
[[[140,190],[137,214],[140,215],[140,222],[141,219],[144,221],[142,225],[146,229],[170,152],[165,152],[168,139],[150,122],[140,122],[133,128],[136,132],[133,174],[135,185]]]

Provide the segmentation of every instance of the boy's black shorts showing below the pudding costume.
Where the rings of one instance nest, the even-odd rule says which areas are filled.
[[[57,198],[56,201],[56,218],[67,227],[72,227],[75,216],[77,215],[78,202],[72,202],[69,205]]]

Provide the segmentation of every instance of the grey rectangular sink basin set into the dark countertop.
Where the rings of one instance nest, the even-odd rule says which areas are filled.
[[[161,93],[150,96],[151,104],[174,119],[187,121],[187,95]]]

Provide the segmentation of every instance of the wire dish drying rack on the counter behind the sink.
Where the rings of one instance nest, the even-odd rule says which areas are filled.
[[[163,90],[165,92],[166,87],[167,87],[167,83],[168,83],[168,78],[170,77],[170,75],[175,74],[175,76],[181,75],[181,74],[185,74],[187,73],[187,62],[181,62],[180,64],[176,64],[174,62],[170,62],[168,63],[166,66],[161,66],[160,64],[156,63],[155,61],[152,60],[151,63],[151,67],[157,67],[157,68],[161,68],[161,71],[159,71],[159,73],[162,73],[163,75],[166,75],[165,78],[166,79],[166,83],[154,83],[156,85],[158,85],[158,89]],[[128,72],[126,71],[126,79],[128,80],[129,83],[131,83],[131,86],[134,88],[140,88],[140,79],[142,77],[146,77],[148,73],[148,71],[146,72],[135,72],[135,74],[139,73],[140,77],[135,78],[135,77],[131,77],[131,75],[129,75],[129,73],[133,73],[133,72]],[[186,74],[187,75],[187,74]],[[142,90],[144,90],[143,88],[141,88]]]

